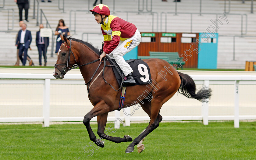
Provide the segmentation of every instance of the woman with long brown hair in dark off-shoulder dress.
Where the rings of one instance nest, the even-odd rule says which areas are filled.
[[[70,35],[69,28],[67,26],[65,26],[64,20],[62,20],[62,19],[59,20],[58,26],[57,26],[56,31],[55,31],[55,35],[58,35],[57,40],[56,40],[57,42],[56,42],[55,53],[59,52],[59,48],[60,48],[60,45],[62,43],[62,40],[60,39],[60,34],[63,34],[64,36],[69,36]]]

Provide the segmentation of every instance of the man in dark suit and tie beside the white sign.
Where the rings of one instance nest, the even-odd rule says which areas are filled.
[[[43,24],[39,25],[39,28],[44,28]],[[42,66],[42,52],[44,56],[44,66],[46,66],[46,52],[47,52],[47,47],[49,46],[49,37],[41,37],[40,34],[40,29],[37,31],[37,36],[36,36],[36,45],[39,53],[39,65]]]

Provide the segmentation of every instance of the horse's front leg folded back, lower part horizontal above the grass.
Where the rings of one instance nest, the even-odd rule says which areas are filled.
[[[109,136],[110,133],[113,133],[117,130],[117,129],[114,129],[114,125],[110,125],[104,133],[107,119],[108,119],[108,112],[97,116],[97,121],[98,121],[98,132],[97,133],[102,139],[110,140],[115,143],[133,141],[133,139],[129,135],[125,135],[123,138]]]

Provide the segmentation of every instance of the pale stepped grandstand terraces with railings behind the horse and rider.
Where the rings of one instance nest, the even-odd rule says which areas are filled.
[[[34,2],[35,19],[33,19]],[[223,20],[223,24],[219,24],[218,29],[217,68],[244,69],[245,61],[256,61],[256,15],[251,13],[251,1],[245,1],[243,4],[240,0],[232,0],[230,1],[230,8],[229,1],[226,1],[226,9],[224,8],[225,1],[223,0],[204,0],[201,7],[200,0],[181,0],[181,2],[177,3],[172,0],[168,2],[153,0],[152,5],[150,0],[130,0],[129,3],[120,0],[104,0],[103,2],[109,6],[113,15],[134,23],[140,32],[206,32],[206,29],[213,25],[210,20],[214,21],[217,16],[224,17],[223,12],[226,10],[226,12],[229,12],[229,14],[226,14],[229,23]],[[31,31],[33,40],[30,45],[32,51],[28,51],[28,54],[36,66],[39,63],[35,37],[36,31],[39,30],[37,23],[40,23],[41,10],[44,12],[53,32],[57,27],[58,20],[63,19],[73,37],[89,41],[93,45],[101,47],[103,36],[100,33],[100,26],[95,22],[93,15],[88,12],[88,9],[93,8],[92,4],[93,1],[90,0],[66,0],[64,1],[64,6],[63,0],[52,0],[51,3],[43,3],[41,0],[30,0],[27,29]],[[37,6],[39,8],[38,22]],[[16,61],[15,37],[19,30],[18,7],[15,2],[7,0],[0,1],[0,7],[3,7],[0,8],[0,20],[2,22],[0,23],[0,46],[2,51],[0,54],[0,65],[12,66]],[[12,10],[9,10],[8,19],[7,9],[14,10],[13,28]],[[253,9],[255,10],[256,7]],[[175,11],[177,14],[174,13]],[[162,12],[168,12],[166,13],[166,20],[165,14],[161,14]],[[200,12],[201,15],[195,14]],[[216,16],[215,14],[218,15]],[[42,16],[42,22],[46,27],[44,16]],[[233,37],[233,35],[241,36],[241,34],[247,37]],[[52,41],[54,41],[53,52],[55,51],[56,36],[54,38],[52,40],[50,37],[50,45],[47,52],[48,66],[53,66],[56,62],[56,54],[51,54]],[[234,39],[235,45],[233,46]]]

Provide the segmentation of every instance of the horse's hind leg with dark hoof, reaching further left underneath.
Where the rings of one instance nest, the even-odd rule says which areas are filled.
[[[150,115],[150,122],[149,125],[147,126],[147,128],[140,133],[140,135],[138,137],[136,137],[133,142],[126,148],[126,153],[130,153],[133,152],[134,150],[134,146],[139,144],[140,141],[146,137],[149,133],[151,133],[153,130],[155,130],[158,126],[160,121],[162,120],[162,116],[159,114],[159,111],[162,107],[162,105],[160,105],[161,102],[160,101],[151,101],[151,115]]]

